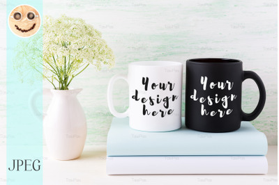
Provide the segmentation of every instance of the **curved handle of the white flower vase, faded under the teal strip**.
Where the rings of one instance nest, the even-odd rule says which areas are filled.
[[[40,95],[48,95],[48,96],[52,96],[52,92],[50,91],[49,88],[43,88],[43,92],[42,90],[35,90],[33,91],[33,93],[31,94],[30,98],[29,98],[29,106],[31,107],[31,111],[33,113],[33,115],[36,115],[36,117],[41,120],[42,118],[45,118],[46,113],[41,113],[37,106],[36,106],[36,101],[38,99],[38,97],[40,97]]]

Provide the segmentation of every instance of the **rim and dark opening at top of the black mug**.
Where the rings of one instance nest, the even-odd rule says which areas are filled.
[[[223,64],[223,65],[235,65],[241,64],[242,61],[234,58],[190,58],[186,63],[193,63],[199,65],[211,65],[211,64]]]

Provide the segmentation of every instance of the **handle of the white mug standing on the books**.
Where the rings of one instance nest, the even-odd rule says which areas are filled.
[[[117,118],[125,118],[129,115],[129,108],[124,113],[117,112],[114,108],[113,99],[112,99],[112,90],[113,90],[114,83],[119,79],[123,79],[128,83],[127,75],[123,75],[123,74],[114,75],[114,77],[110,79],[109,86],[107,87],[107,104],[109,106],[112,115],[114,115]]]

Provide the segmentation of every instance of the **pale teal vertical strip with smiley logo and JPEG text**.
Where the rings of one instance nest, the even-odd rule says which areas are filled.
[[[22,4],[25,8],[17,8]],[[30,102],[34,91],[43,90],[43,0],[7,0],[6,14],[6,88],[11,92],[7,93],[7,184],[39,185],[43,184],[43,116],[39,114],[43,97],[37,95],[37,115]],[[36,34],[22,37],[36,29]]]

